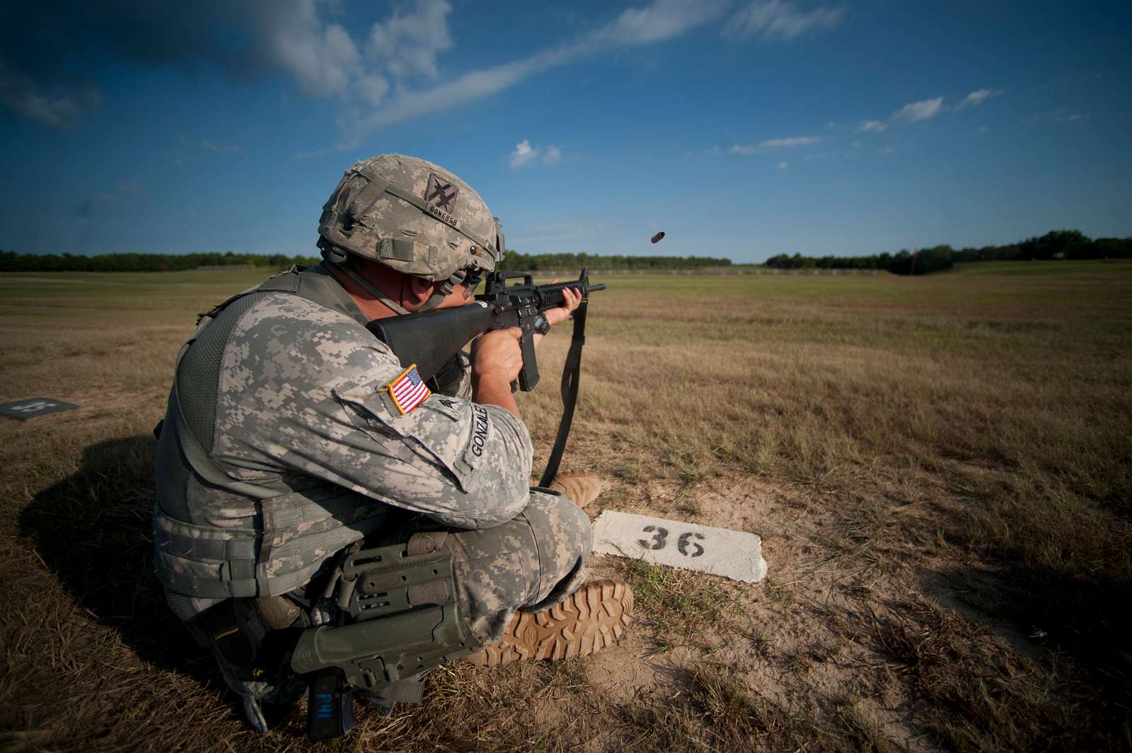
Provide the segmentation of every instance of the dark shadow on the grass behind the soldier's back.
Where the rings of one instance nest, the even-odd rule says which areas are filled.
[[[153,436],[92,444],[79,469],[19,516],[20,533],[75,603],[144,661],[224,687],[211,655],[165,605],[153,571]]]

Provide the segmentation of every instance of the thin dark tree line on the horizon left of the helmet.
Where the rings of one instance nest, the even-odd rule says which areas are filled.
[[[255,265],[282,268],[315,265],[318,257],[289,257],[282,253],[101,253],[84,257],[71,253],[16,253],[0,251],[0,271],[175,271],[197,267]]]

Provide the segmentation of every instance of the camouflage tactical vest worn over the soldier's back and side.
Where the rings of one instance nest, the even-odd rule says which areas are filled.
[[[201,314],[181,347],[158,425],[154,564],[170,606],[182,620],[197,612],[194,599],[293,590],[328,557],[376,533],[395,514],[381,502],[297,474],[240,481],[209,457],[217,374],[229,335],[272,293],[298,295],[353,315],[352,302],[321,265],[292,267]]]

